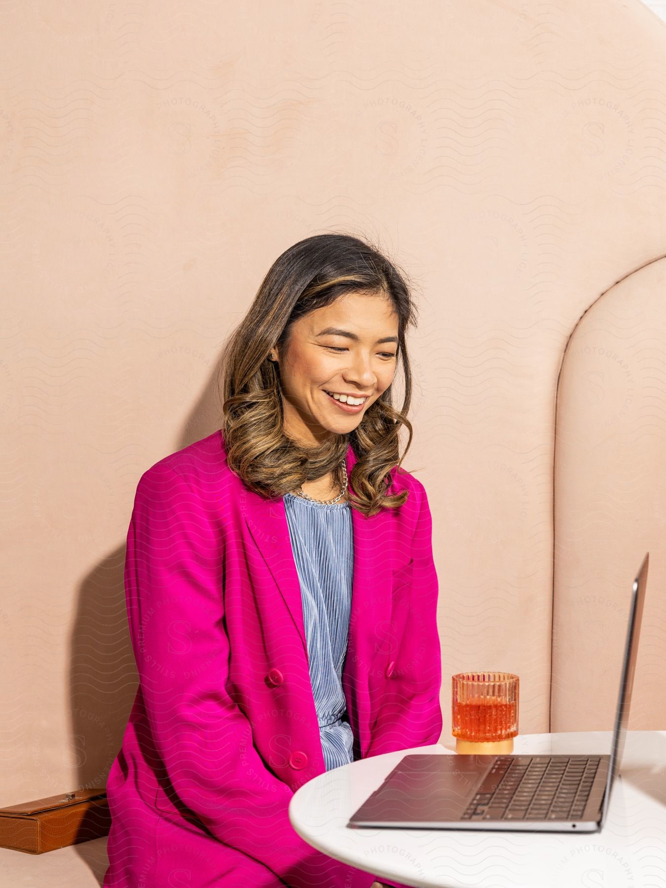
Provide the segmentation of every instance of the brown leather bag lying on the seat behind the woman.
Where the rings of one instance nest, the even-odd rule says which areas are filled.
[[[0,808],[0,847],[43,854],[107,836],[110,827],[106,789],[77,789]]]

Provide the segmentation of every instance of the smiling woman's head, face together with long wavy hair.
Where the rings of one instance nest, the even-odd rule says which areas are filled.
[[[348,234],[318,234],[285,250],[234,330],[220,368],[227,461],[263,496],[344,488],[351,445],[353,507],[397,508],[390,473],[412,439],[405,343],[416,323],[407,274]],[[401,369],[404,398],[392,404]],[[400,456],[399,431],[408,441]]]

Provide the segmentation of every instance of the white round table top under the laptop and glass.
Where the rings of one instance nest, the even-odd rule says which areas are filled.
[[[514,754],[609,754],[612,733],[534,733]],[[604,828],[587,834],[346,826],[408,753],[361,759],[297,789],[289,821],[329,857],[416,888],[666,888],[666,731],[629,731]]]

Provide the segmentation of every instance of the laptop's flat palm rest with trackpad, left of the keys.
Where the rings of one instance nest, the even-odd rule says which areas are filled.
[[[493,756],[405,756],[354,818],[415,824],[457,821],[493,760]]]

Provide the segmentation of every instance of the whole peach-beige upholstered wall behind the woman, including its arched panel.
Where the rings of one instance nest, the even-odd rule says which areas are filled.
[[[415,440],[450,676],[521,733],[664,726],[666,31],[638,0],[0,10],[0,802],[104,785],[136,688],[142,472],[219,424],[268,266],[322,231],[416,278]],[[554,621],[554,623],[553,623]]]

